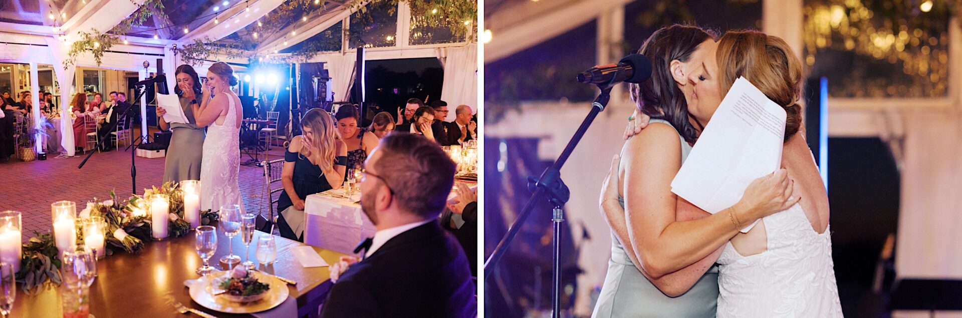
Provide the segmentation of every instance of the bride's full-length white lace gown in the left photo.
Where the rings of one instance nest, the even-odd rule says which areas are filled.
[[[234,96],[224,122],[216,121],[207,128],[204,156],[200,165],[200,208],[220,210],[224,205],[236,204],[243,208],[238,175],[241,173],[241,136],[237,127],[237,107]]]

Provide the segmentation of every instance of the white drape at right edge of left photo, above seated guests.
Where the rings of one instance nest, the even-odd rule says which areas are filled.
[[[468,105],[478,110],[478,46],[470,43],[463,47],[450,47],[441,61],[444,67],[444,82],[441,99],[447,102],[448,110],[459,105]],[[453,115],[448,116],[454,120]]]

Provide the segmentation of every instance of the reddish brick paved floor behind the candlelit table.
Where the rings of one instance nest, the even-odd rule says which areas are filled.
[[[281,147],[274,147],[268,159],[282,159],[283,151]],[[96,153],[83,169],[77,169],[77,165],[84,155],[78,154],[72,159],[54,159],[54,156],[56,154],[43,161],[10,159],[0,163],[0,210],[23,212],[25,238],[33,236],[34,231],[51,231],[50,204],[56,201],[76,202],[79,210],[94,197],[105,200],[112,189],[117,197],[127,198],[131,194],[130,151]],[[241,156],[241,162],[248,159]],[[160,186],[163,180],[164,159],[137,158],[139,194],[143,194],[143,188]],[[261,199],[262,168],[241,165],[240,183],[244,208],[266,215],[266,205]]]

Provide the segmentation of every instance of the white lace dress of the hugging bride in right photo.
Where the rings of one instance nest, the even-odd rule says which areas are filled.
[[[768,250],[719,257],[718,317],[842,317],[830,228],[818,233],[796,204],[765,217]]]

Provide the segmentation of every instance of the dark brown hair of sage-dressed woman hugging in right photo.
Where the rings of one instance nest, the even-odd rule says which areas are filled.
[[[688,102],[671,76],[671,61],[688,61],[698,45],[714,37],[711,31],[675,24],[655,31],[638,49],[651,60],[651,78],[630,86],[631,100],[652,119],[670,122],[689,142],[695,142],[698,132],[688,121]]]

